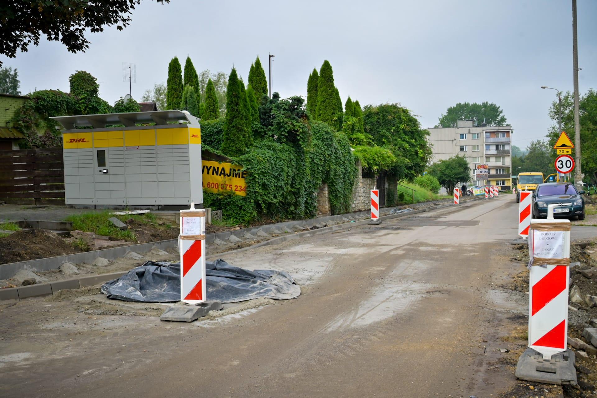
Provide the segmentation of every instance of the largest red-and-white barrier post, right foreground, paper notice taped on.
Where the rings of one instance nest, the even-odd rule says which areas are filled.
[[[554,220],[554,206],[548,206],[546,220],[531,220],[528,235],[528,346],[547,360],[566,350],[568,337],[570,220]]]

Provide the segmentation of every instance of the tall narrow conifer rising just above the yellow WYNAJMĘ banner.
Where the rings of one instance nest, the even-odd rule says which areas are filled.
[[[247,128],[247,95],[241,89],[241,81],[232,68],[228,76],[226,88],[226,121],[224,122],[224,134],[222,152],[228,156],[241,156],[247,152],[250,146],[250,130]]]

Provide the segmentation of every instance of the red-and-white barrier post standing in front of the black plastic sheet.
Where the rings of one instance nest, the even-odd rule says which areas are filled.
[[[206,300],[205,287],[205,210],[180,211],[180,301],[198,304]]]

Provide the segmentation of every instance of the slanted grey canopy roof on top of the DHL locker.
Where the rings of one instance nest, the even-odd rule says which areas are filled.
[[[107,125],[122,124],[135,127],[140,123],[167,125],[168,122],[187,121],[189,125],[199,126],[199,119],[186,110],[155,110],[151,112],[104,113],[102,115],[54,116],[55,121],[72,130],[77,127],[105,128]]]

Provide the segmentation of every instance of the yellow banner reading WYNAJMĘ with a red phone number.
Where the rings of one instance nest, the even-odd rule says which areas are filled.
[[[247,172],[232,163],[202,161],[203,189],[207,192],[232,192],[247,195]]]

